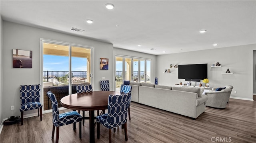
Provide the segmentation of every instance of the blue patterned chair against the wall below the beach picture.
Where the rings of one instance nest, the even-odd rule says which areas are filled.
[[[23,125],[23,114],[24,111],[38,110],[38,116],[40,111],[40,120],[42,121],[42,107],[40,103],[40,84],[35,85],[21,85],[20,86],[20,114],[21,114],[21,125]]]

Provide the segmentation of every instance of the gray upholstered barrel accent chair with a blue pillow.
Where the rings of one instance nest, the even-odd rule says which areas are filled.
[[[206,106],[214,108],[226,108],[232,89],[233,86],[226,85],[225,87],[221,88],[214,87],[212,90],[205,92],[204,94],[208,97]]]

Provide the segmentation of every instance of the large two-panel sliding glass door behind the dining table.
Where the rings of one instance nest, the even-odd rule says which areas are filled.
[[[91,48],[42,41],[44,110],[51,109],[46,92],[52,91],[61,107],[60,99],[75,93],[74,84],[91,82]]]

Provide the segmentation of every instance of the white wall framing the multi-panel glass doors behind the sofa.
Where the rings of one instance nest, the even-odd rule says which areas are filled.
[[[130,57],[140,57],[145,59],[152,59],[152,83],[155,82],[156,77],[156,55],[146,54],[146,53],[140,53],[136,51],[129,51],[125,49],[120,48],[114,48],[114,61],[115,61],[115,55],[123,55],[123,56],[130,56]],[[116,63],[114,63],[116,65]],[[115,69],[114,69],[115,70]]]

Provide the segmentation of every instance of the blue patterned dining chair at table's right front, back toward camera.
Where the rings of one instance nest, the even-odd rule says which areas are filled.
[[[127,108],[130,98],[130,93],[122,95],[108,96],[108,113],[97,116],[97,124],[102,124],[108,128],[109,143],[111,143],[111,129],[124,125],[125,140],[127,137]],[[100,138],[100,129],[97,129],[97,138]]]

